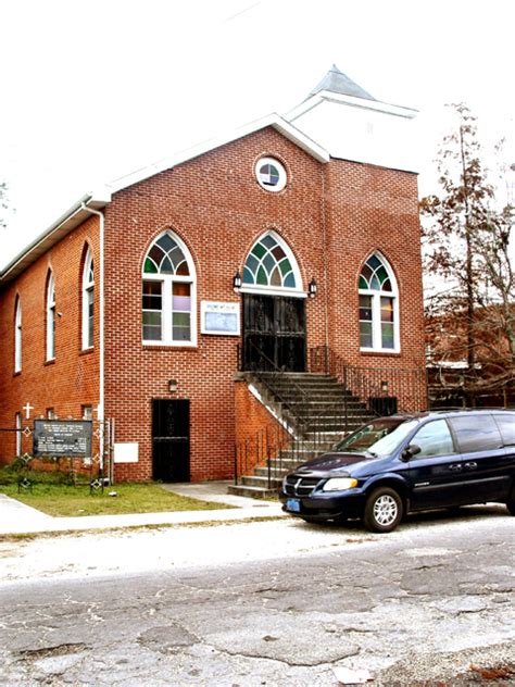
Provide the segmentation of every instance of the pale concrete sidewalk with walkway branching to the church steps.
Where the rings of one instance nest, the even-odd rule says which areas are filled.
[[[163,488],[180,496],[202,501],[235,505],[233,509],[213,511],[180,511],[163,513],[134,513],[125,515],[85,515],[84,517],[53,517],[0,494],[0,536],[11,534],[38,534],[49,532],[85,532],[145,525],[180,525],[205,522],[243,521],[260,517],[281,517],[280,503],[260,501],[240,496],[229,496],[230,482],[163,485]],[[115,487],[114,487],[115,488]]]

